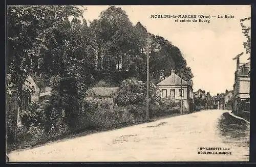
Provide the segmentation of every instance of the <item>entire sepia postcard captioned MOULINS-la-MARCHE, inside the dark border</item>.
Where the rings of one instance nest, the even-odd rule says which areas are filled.
[[[250,5],[7,6],[7,162],[249,161]]]

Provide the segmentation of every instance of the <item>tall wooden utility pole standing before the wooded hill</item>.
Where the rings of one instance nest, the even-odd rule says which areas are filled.
[[[150,88],[150,33],[147,33],[147,70],[146,70],[146,120],[149,118],[149,88]]]

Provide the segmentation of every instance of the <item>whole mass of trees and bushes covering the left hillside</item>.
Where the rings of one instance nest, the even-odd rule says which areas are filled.
[[[125,106],[127,115],[144,115],[147,40],[151,110],[162,105],[154,84],[171,69],[184,78],[193,77],[178,47],[153,34],[147,39],[145,27],[140,22],[133,25],[121,8],[111,6],[90,25],[83,11],[74,6],[8,6],[7,15],[7,73],[16,77],[19,110],[23,96],[29,93],[23,87],[28,74],[37,76],[39,87],[53,87],[49,101],[31,103],[23,110],[25,126],[13,128],[15,121],[8,117],[8,136],[16,134],[16,141],[67,134],[78,128],[80,118],[99,118],[109,125],[122,122],[114,117],[111,101],[84,102],[93,84],[120,87],[114,102]]]

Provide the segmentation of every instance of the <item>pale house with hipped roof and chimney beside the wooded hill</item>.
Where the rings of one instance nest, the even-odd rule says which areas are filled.
[[[181,79],[175,70],[171,71],[170,76],[157,84],[160,95],[164,97],[173,97],[176,100],[183,100],[184,112],[193,110],[193,85],[191,81]]]

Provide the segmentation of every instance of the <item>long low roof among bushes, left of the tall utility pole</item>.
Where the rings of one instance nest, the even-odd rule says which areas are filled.
[[[116,93],[119,88],[88,88],[86,94],[88,96],[111,96]]]

